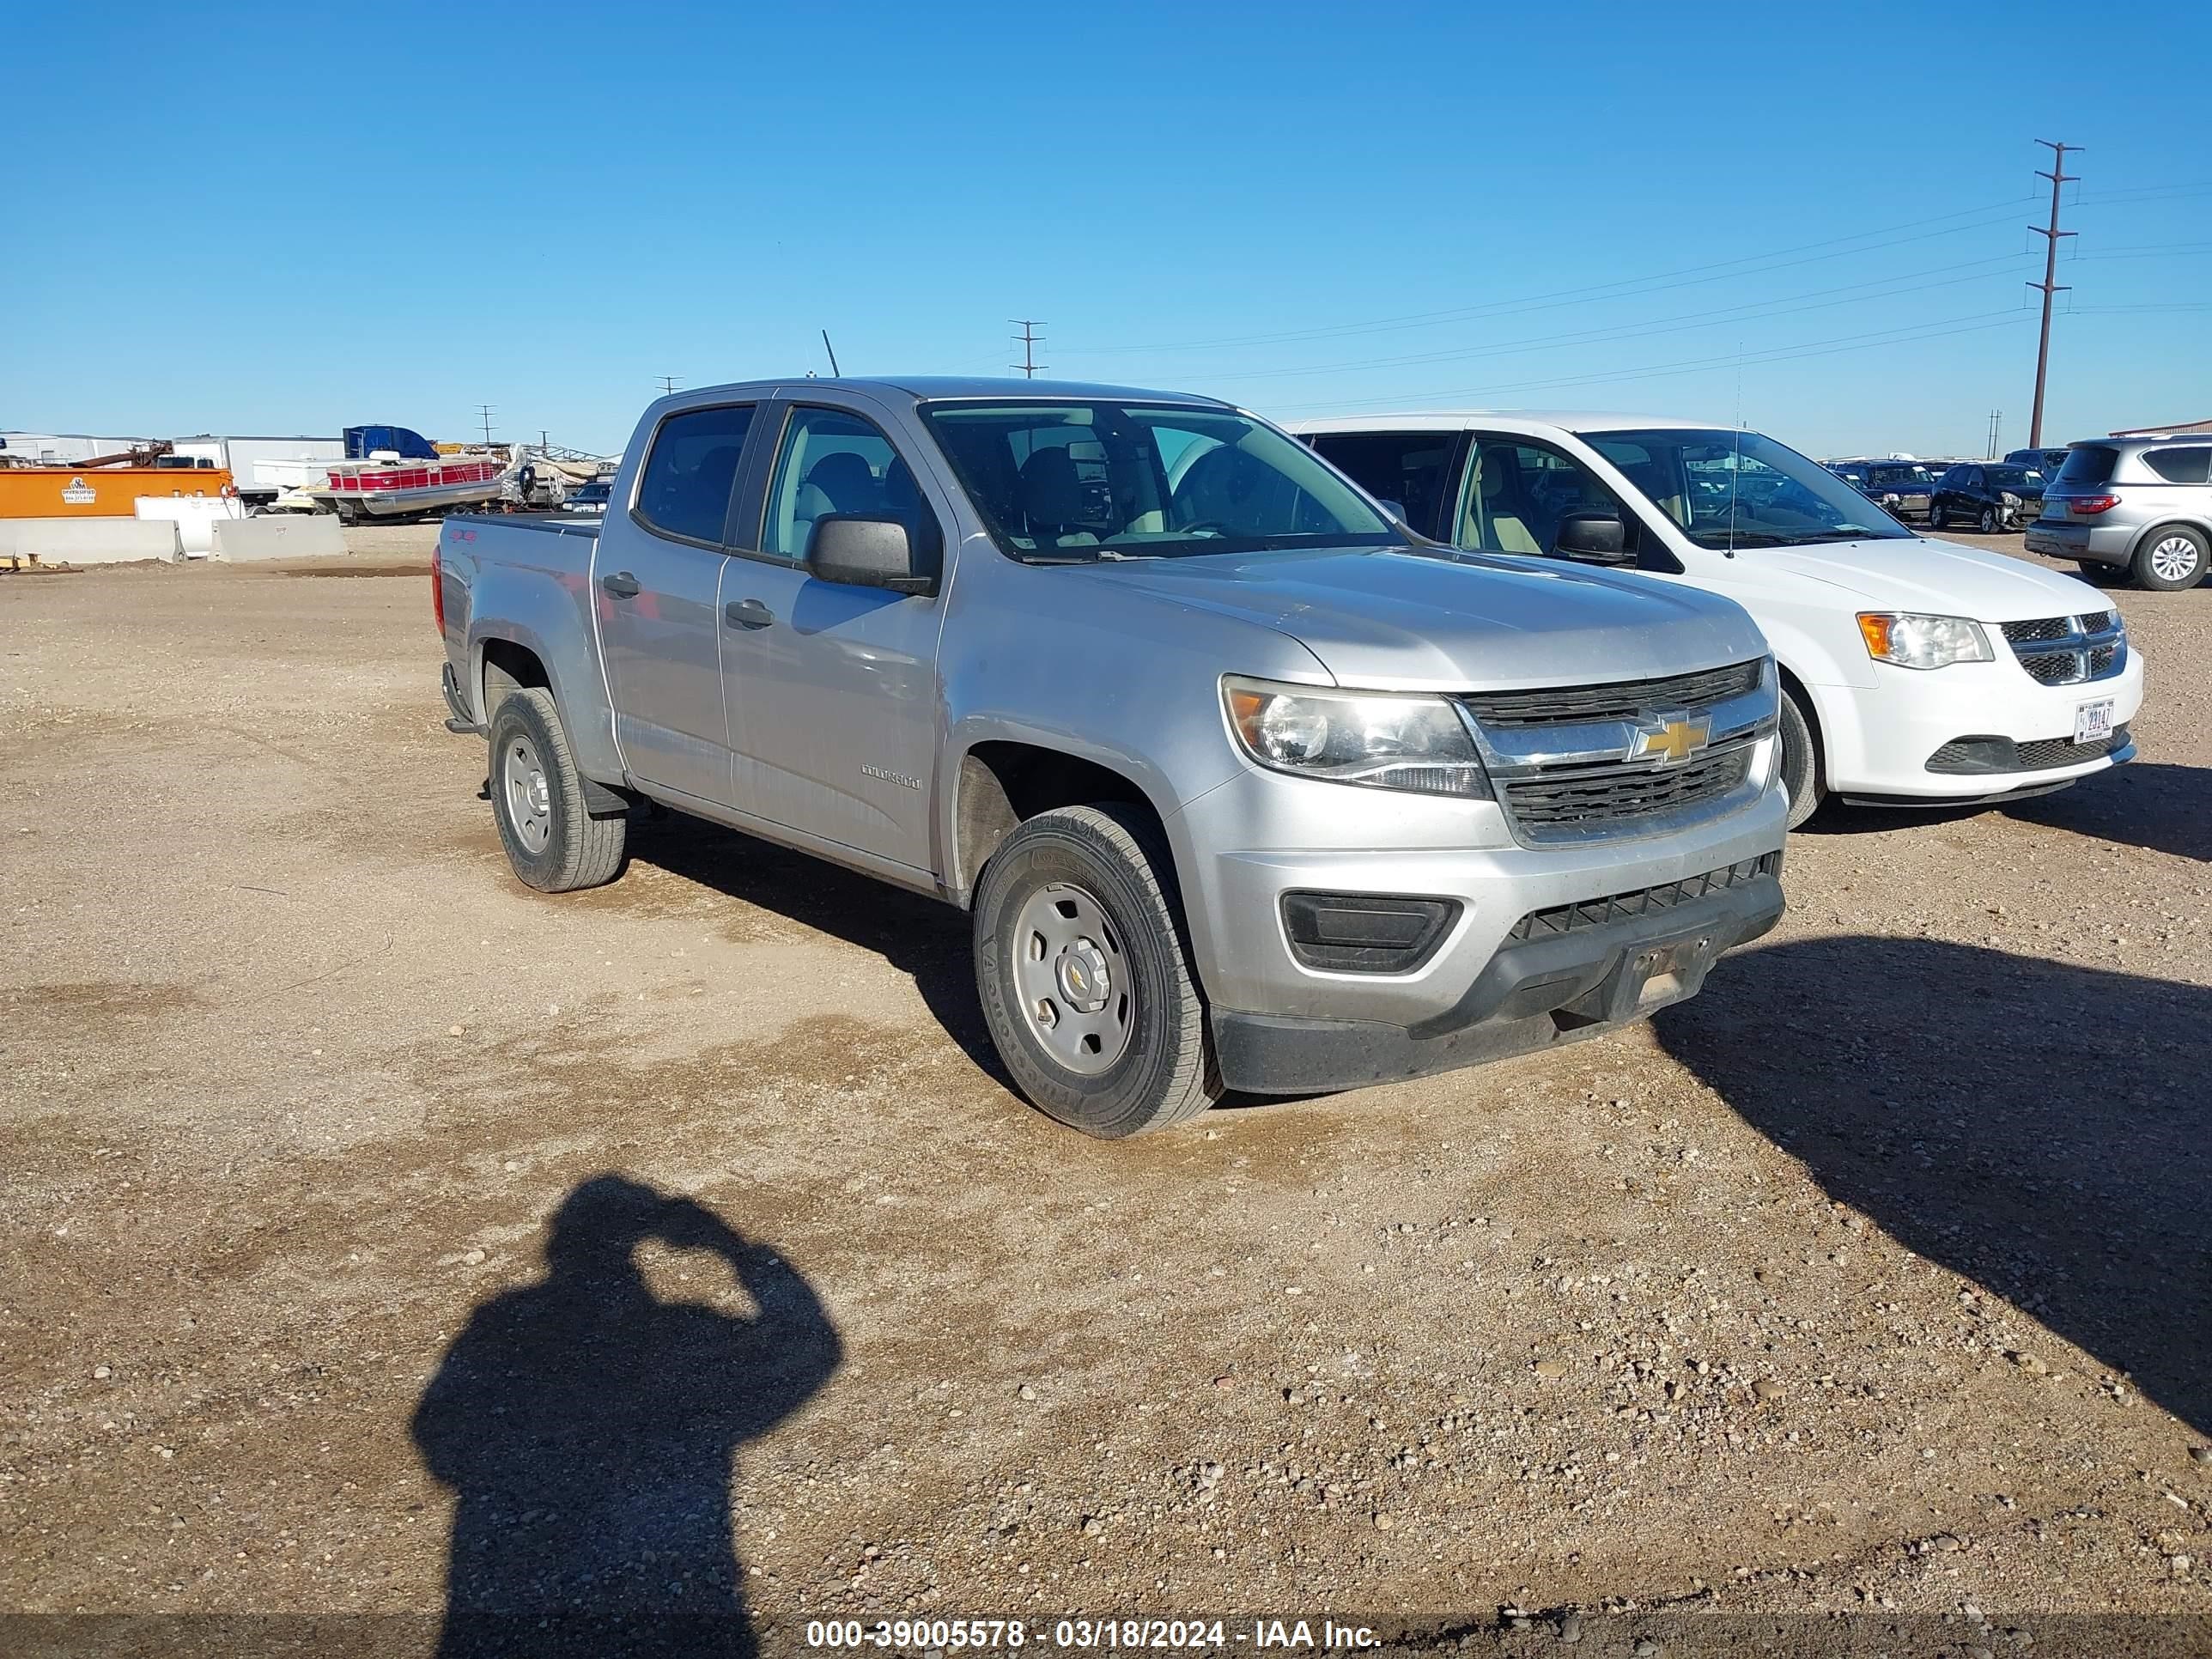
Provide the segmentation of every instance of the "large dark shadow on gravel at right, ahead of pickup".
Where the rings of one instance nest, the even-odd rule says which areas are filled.
[[[1725,978],[1723,978],[1725,975]],[[1652,1022],[1829,1199],[2212,1431],[2212,991],[1927,938],[1745,951]]]

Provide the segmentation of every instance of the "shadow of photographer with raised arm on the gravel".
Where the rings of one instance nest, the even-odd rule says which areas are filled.
[[[759,1314],[661,1301],[635,1259],[646,1241],[723,1256]],[[440,1659],[750,1657],[732,1462],[841,1356],[776,1252],[690,1199],[580,1183],[546,1276],[476,1310],[414,1413],[456,1493]]]

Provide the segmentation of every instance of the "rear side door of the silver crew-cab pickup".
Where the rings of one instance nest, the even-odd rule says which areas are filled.
[[[608,511],[591,568],[624,768],[714,805],[730,805],[717,599],[752,416],[754,405],[726,403],[661,420],[628,511]]]

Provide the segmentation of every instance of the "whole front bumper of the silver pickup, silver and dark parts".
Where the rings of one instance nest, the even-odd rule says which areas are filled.
[[[1781,918],[1785,818],[1783,792],[1765,790],[1670,834],[1524,847],[1489,801],[1252,770],[1168,821],[1223,1082],[1354,1088],[1694,995],[1721,951]],[[1349,947],[1316,960],[1292,938],[1301,907],[1352,920],[1363,898],[1447,914],[1387,969],[1374,967],[1385,951],[1358,971]]]

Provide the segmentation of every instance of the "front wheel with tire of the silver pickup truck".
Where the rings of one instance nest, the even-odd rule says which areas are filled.
[[[975,991],[1015,1084],[1068,1128],[1121,1139],[1221,1099],[1175,865],[1126,805],[1006,836],[975,889]]]

